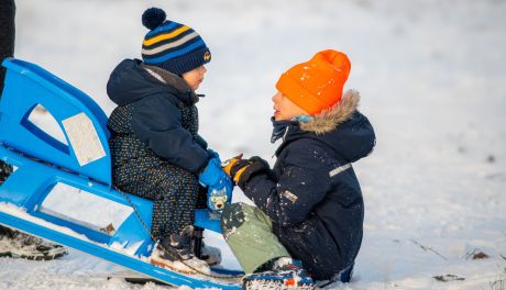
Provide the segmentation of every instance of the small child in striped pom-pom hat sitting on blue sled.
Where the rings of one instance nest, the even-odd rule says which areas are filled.
[[[211,210],[222,210],[232,192],[218,154],[198,134],[195,91],[211,53],[196,31],[166,20],[161,9],[147,9],[142,23],[150,30],[142,60],[121,62],[107,85],[118,104],[108,121],[113,182],[154,201],[153,264],[186,274],[209,272],[208,264],[191,250],[199,183],[213,193]],[[219,263],[219,256],[213,258]]]

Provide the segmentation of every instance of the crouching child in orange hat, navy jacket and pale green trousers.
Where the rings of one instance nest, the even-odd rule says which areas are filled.
[[[352,163],[372,152],[375,134],[356,110],[359,93],[343,93],[350,69],[348,56],[332,49],[288,69],[272,99],[272,142],[283,138],[274,168],[260,157],[224,164],[256,204],[231,204],[221,221],[246,289],[351,278],[364,219]]]

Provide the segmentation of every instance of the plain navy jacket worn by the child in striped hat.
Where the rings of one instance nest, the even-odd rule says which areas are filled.
[[[164,83],[157,78],[168,71],[150,74],[150,70],[162,72],[160,68],[141,65],[140,60],[124,59],[112,71],[107,93],[119,107],[131,107],[125,130],[133,131],[151,155],[196,174],[207,165],[209,157],[207,143],[197,134],[195,103],[198,97],[182,78],[169,75],[164,80],[169,83]],[[189,121],[184,118],[188,110],[194,111]],[[112,133],[125,133],[121,132],[123,129],[110,129]],[[130,159],[135,161],[136,157]]]

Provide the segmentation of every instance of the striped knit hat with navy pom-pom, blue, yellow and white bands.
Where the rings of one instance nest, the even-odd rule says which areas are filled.
[[[150,8],[142,14],[142,24],[151,30],[142,43],[142,59],[183,75],[211,60],[211,52],[191,27],[165,20],[160,8]]]

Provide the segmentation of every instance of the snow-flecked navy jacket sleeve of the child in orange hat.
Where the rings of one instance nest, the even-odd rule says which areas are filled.
[[[277,180],[270,169],[256,169],[245,175],[248,180],[241,180],[240,187],[273,222],[290,226],[309,217],[324,198],[330,181],[326,166],[314,150],[299,145],[285,149],[289,152]],[[253,170],[255,167],[258,168],[253,166]]]

